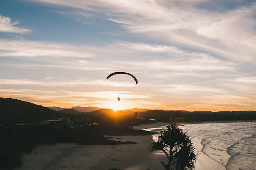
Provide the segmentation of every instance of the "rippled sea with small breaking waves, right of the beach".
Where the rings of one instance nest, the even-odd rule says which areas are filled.
[[[180,128],[192,142],[200,140],[202,152],[226,170],[256,170],[256,122],[184,124]]]

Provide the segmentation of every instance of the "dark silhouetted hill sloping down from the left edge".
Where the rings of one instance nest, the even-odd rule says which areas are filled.
[[[67,117],[67,114],[47,107],[11,98],[0,98],[0,123],[31,123],[38,120]]]

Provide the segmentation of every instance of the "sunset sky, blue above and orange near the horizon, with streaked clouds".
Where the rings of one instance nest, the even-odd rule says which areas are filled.
[[[256,110],[255,44],[256,0],[1,0],[0,97]]]

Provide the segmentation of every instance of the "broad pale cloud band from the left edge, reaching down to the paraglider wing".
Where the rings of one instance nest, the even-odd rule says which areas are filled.
[[[98,75],[121,70],[138,76],[144,73],[143,77],[155,80],[166,81],[176,77],[176,81],[180,81],[186,76],[210,78],[223,75],[224,72],[229,73],[225,75],[227,78],[230,74],[237,74],[238,70],[238,64],[232,61],[159,44],[115,42],[97,47],[0,39],[0,49],[0,56],[18,57],[20,60],[2,60],[1,66],[52,71],[54,74],[63,72],[63,69],[69,70],[70,74],[71,71],[99,71]],[[121,84],[122,82],[115,82],[112,86]]]

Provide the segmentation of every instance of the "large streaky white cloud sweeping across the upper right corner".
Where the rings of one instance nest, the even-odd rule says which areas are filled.
[[[31,0],[33,1],[33,0]],[[212,10],[216,2],[148,0],[34,0],[106,15],[131,33],[140,33],[175,46],[200,49],[223,58],[256,64],[256,2]],[[237,2],[232,2],[233,4]],[[203,5],[204,6],[203,6]],[[202,7],[203,6],[203,7]],[[219,9],[219,8],[218,8]],[[243,57],[242,57],[243,56]]]

